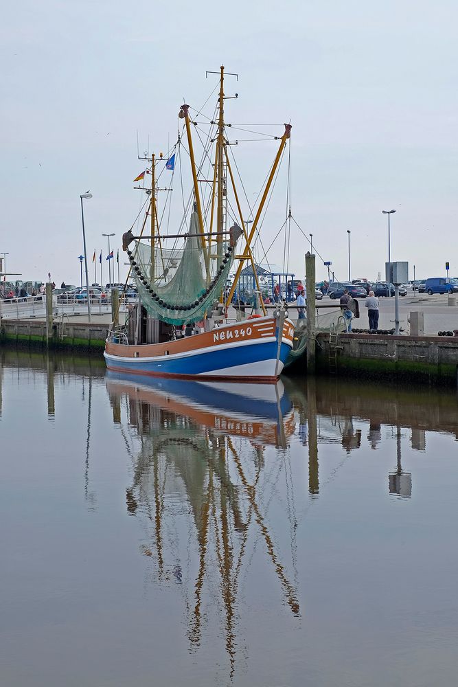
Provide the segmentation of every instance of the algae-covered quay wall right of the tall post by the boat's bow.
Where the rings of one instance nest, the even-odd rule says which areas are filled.
[[[458,337],[341,334],[334,356],[329,335],[319,334],[317,368],[339,376],[405,379],[456,387]]]

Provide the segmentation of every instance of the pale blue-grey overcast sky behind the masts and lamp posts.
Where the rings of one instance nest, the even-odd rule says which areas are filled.
[[[457,41],[453,0],[317,0],[229,4],[23,0],[3,3],[0,252],[24,279],[79,284],[80,194],[87,253],[102,233],[132,225],[140,150],[174,142],[183,98],[201,106],[227,79],[227,121],[291,138],[291,209],[336,276],[375,279],[387,260],[417,278],[458,275]],[[240,134],[240,138],[242,135]],[[277,143],[234,152],[255,198]],[[268,246],[285,219],[286,167],[263,227]],[[244,211],[247,210],[245,205]],[[248,210],[247,210],[248,212]],[[307,242],[292,231],[290,269],[304,275]],[[282,240],[269,254],[282,264]],[[120,262],[124,262],[121,258]],[[104,262],[104,281],[108,271]],[[122,266],[121,278],[126,268]],[[318,263],[317,278],[327,272]]]

